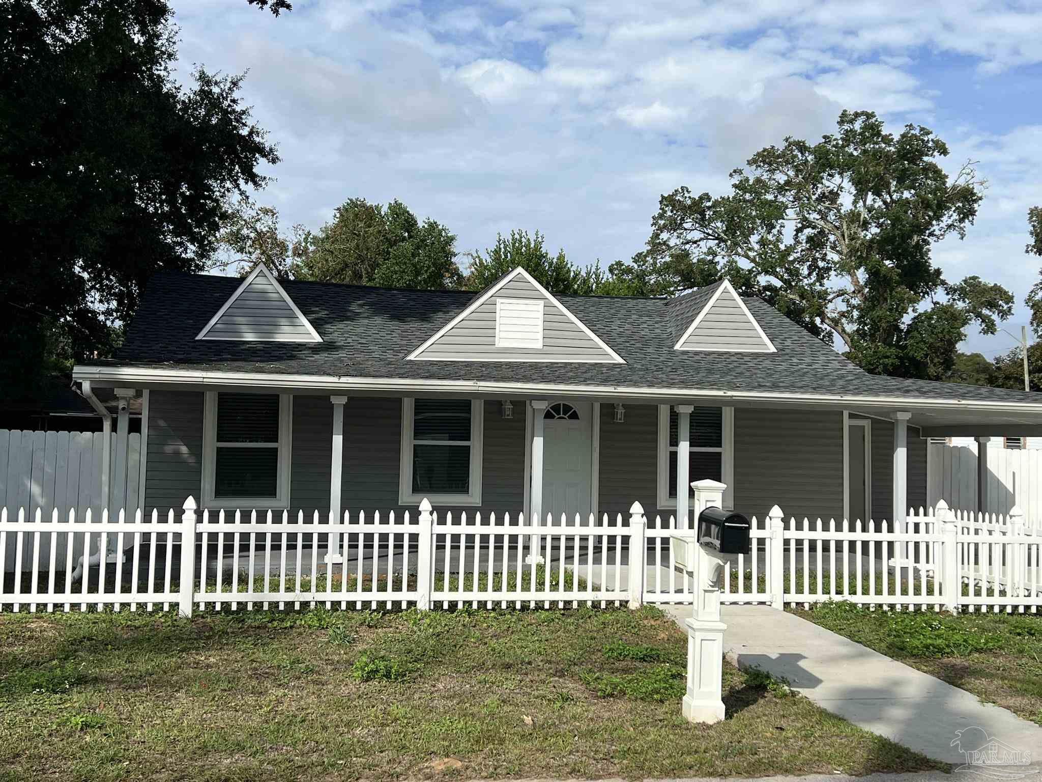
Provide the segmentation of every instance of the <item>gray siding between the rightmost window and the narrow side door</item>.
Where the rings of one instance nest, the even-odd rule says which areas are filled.
[[[842,518],[842,413],[735,410],[735,508],[763,519],[774,505],[787,522]]]

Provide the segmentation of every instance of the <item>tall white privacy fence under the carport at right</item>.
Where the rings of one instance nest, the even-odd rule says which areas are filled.
[[[927,445],[926,500],[949,508],[977,508],[976,445]],[[989,513],[1024,511],[1028,528],[1042,528],[1042,450],[988,448]]]

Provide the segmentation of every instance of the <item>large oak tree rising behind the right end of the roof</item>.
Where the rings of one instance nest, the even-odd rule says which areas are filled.
[[[730,193],[664,195],[642,261],[662,289],[721,275],[832,341],[870,372],[940,380],[965,329],[993,334],[1012,295],[978,276],[947,282],[933,262],[962,238],[983,182],[941,167],[928,128],[888,132],[871,112],[843,112],[816,144],[787,138],[731,172]]]

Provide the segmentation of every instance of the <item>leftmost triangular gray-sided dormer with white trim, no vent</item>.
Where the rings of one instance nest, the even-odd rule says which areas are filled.
[[[257,264],[196,337],[237,342],[321,342],[275,275]]]

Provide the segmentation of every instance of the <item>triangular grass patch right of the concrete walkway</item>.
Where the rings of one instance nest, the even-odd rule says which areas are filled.
[[[1042,615],[869,611],[849,603],[795,613],[1042,725]]]

